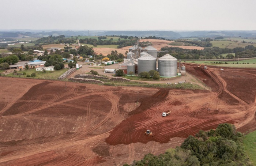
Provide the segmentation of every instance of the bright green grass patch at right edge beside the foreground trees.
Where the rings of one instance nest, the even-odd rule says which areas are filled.
[[[252,161],[252,164],[256,165],[256,131],[245,135],[244,147],[246,154]]]

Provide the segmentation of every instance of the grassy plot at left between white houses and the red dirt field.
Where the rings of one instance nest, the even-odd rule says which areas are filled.
[[[35,79],[50,79],[50,80],[56,80],[59,76],[61,76],[64,72],[68,71],[68,69],[62,69],[62,70],[54,70],[54,71],[46,71],[45,73],[42,71],[35,71],[35,69],[29,69],[29,70],[17,70],[17,73],[23,73],[26,72],[26,75],[13,75],[13,73],[9,73],[6,76],[8,77],[19,77],[19,78],[35,78]],[[36,73],[35,77],[27,77],[27,75],[31,75],[32,73]],[[3,75],[3,73],[2,73]]]

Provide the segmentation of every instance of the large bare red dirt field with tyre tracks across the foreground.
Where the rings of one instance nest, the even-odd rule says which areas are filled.
[[[185,66],[211,90],[0,77],[0,165],[123,165],[220,123],[256,129],[255,69]]]

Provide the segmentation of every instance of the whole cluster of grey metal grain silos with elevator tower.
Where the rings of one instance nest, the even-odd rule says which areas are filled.
[[[159,52],[165,52],[166,54],[158,58]],[[155,70],[159,72],[161,77],[171,78],[185,73],[185,66],[183,64],[180,67],[179,73],[177,73],[177,63],[178,60],[168,54],[168,51],[158,51],[152,46],[142,48],[138,40],[136,45],[129,48],[127,58],[120,65],[120,69],[129,76]]]

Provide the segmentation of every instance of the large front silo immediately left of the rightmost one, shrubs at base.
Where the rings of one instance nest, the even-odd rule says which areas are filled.
[[[150,70],[157,69],[157,59],[150,54],[146,53],[145,55],[138,58],[138,74],[141,72],[149,72]]]

